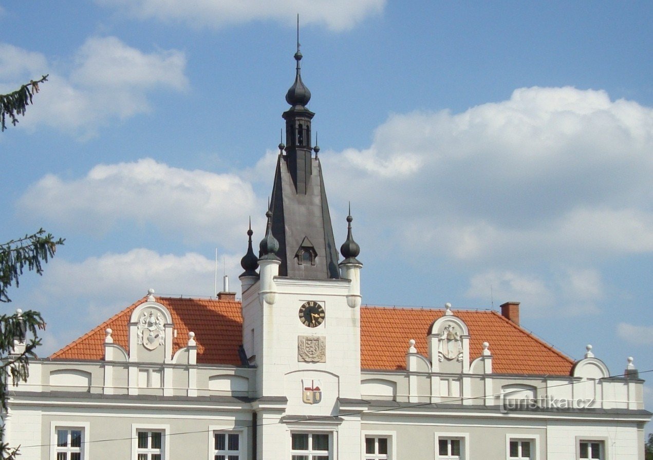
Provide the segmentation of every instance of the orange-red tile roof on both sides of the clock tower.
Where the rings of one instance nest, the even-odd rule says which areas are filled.
[[[217,299],[157,297],[172,314],[177,337],[172,352],[186,346],[188,332],[195,332],[198,363],[240,365],[242,344],[240,302]],[[103,322],[86,335],[52,354],[56,360],[102,360],[104,331],[113,330],[114,343],[128,348],[127,323],[142,298]],[[360,361],[362,369],[406,369],[409,339],[427,355],[426,334],[443,310],[364,306],[360,309]],[[569,375],[573,360],[547,345],[496,311],[456,310],[470,329],[470,357],[481,355],[490,343],[492,371],[530,375]]]

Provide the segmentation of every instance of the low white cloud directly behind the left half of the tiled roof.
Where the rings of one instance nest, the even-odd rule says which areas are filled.
[[[240,255],[225,255],[232,279],[240,269]],[[222,267],[221,267],[222,268]],[[215,262],[197,253],[159,254],[145,248],[107,253],[82,262],[55,258],[48,275],[20,305],[39,310],[48,328],[44,356],[82,335],[154,288],[163,296],[214,296]],[[221,290],[222,284],[217,286]],[[66,318],[74,316],[74,322]]]

